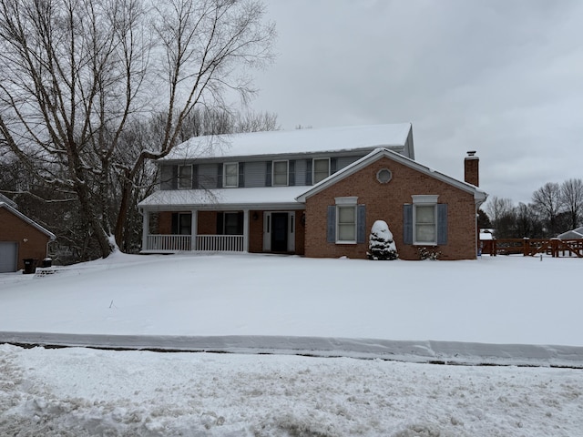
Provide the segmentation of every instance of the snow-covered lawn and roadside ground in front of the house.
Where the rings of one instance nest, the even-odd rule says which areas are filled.
[[[583,435],[581,262],[115,254],[3,274],[0,342],[247,353],[3,345],[0,435]]]

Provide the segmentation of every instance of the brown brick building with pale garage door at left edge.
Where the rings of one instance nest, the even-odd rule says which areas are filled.
[[[0,194],[0,273],[25,268],[24,259],[46,258],[49,232],[16,209],[16,204]]]

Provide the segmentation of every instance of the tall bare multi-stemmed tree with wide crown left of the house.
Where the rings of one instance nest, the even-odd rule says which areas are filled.
[[[0,147],[75,193],[107,257],[146,161],[169,154],[194,108],[252,95],[248,68],[272,59],[263,15],[257,0],[0,0]],[[128,147],[149,108],[161,135]]]

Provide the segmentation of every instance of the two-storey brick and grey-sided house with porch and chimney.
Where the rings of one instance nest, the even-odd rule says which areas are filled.
[[[160,189],[138,204],[142,252],[235,250],[366,258],[375,220],[399,256],[418,248],[475,259],[486,200],[478,159],[465,179],[414,160],[411,124],[194,137],[159,160]]]

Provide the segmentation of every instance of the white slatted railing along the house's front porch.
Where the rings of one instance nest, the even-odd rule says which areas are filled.
[[[190,235],[148,235],[142,251],[175,252],[199,250],[210,252],[244,251],[242,235],[197,235],[192,245]]]

